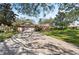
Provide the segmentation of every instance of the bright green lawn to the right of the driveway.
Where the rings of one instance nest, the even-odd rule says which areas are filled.
[[[79,30],[76,29],[52,30],[50,32],[45,31],[42,33],[79,46]]]

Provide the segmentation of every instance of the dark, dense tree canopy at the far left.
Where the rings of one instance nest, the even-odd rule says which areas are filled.
[[[15,21],[16,14],[12,11],[10,3],[0,4],[0,24],[10,26]]]

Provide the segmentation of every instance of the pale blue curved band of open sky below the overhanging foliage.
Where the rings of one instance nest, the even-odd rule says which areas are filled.
[[[53,12],[50,12],[49,14],[47,14],[45,17],[43,17],[43,14],[41,13],[39,17],[32,17],[32,16],[28,16],[28,15],[23,15],[18,13],[15,9],[13,9],[13,11],[18,14],[18,18],[26,18],[26,19],[32,19],[33,21],[35,21],[35,23],[38,23],[39,19],[49,19],[49,18],[54,18],[56,16],[56,14],[58,13],[58,5],[55,5],[55,9]]]

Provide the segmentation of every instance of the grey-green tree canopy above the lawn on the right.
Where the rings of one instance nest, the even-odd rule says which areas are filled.
[[[78,20],[79,17],[79,4],[78,3],[62,3],[58,4],[58,14],[56,15],[53,23],[59,28],[65,28],[70,23]]]

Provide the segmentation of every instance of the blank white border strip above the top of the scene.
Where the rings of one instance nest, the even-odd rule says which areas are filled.
[[[0,3],[78,3],[79,0],[0,0]]]

